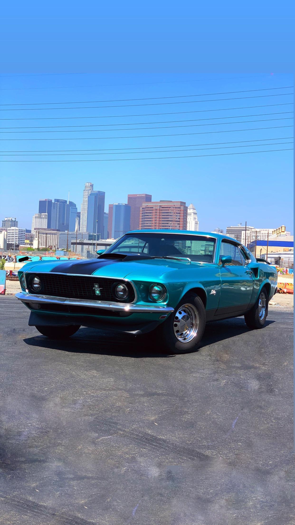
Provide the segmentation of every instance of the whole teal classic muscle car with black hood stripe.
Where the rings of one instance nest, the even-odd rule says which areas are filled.
[[[29,325],[52,339],[80,326],[152,332],[170,352],[197,348],[205,324],[244,316],[262,328],[277,271],[235,239],[178,230],[136,230],[98,258],[29,262],[16,297]]]

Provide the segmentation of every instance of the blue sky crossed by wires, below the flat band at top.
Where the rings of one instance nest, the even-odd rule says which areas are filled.
[[[293,129],[290,127],[293,123],[291,120],[293,96],[285,95],[293,91],[292,88],[288,88],[293,85],[292,75],[75,74],[27,76],[20,74],[20,76],[2,75],[0,83],[1,103],[12,104],[7,108],[1,106],[4,111],[1,111],[0,116],[2,119],[14,119],[1,120],[1,127],[17,128],[2,130],[2,152],[8,150],[51,150],[52,152],[74,150],[72,153],[75,153],[75,150],[134,149],[128,154],[120,155],[107,152],[103,155],[14,157],[20,161],[82,159],[81,162],[3,163],[2,184],[4,184],[4,195],[7,198],[2,200],[1,216],[17,216],[20,226],[30,227],[31,216],[38,211],[39,198],[67,198],[68,190],[70,190],[70,199],[76,202],[79,208],[85,182],[93,182],[94,189],[106,192],[106,211],[109,203],[127,202],[128,193],[145,192],[151,193],[153,200],[180,199],[187,205],[193,202],[197,208],[200,227],[203,230],[211,230],[215,227],[225,228],[227,225],[239,222],[244,224],[245,220],[249,225],[255,227],[277,227],[286,224],[288,229],[292,229],[293,153],[292,151],[269,151],[292,148],[292,144],[288,142],[293,140]],[[237,91],[243,92],[236,93]],[[212,95],[207,95],[207,93],[212,93]],[[218,95],[218,93],[224,94]],[[193,97],[193,95],[201,96]],[[115,101],[152,99],[153,97],[159,97],[159,99]],[[101,100],[114,100],[114,102],[86,103],[86,101]],[[59,109],[57,104],[44,105],[50,102],[65,102],[59,106],[71,109]],[[68,102],[77,103],[69,104]],[[36,108],[50,109],[33,110],[33,105],[13,106],[13,104],[21,103],[36,104]],[[131,107],[133,105],[134,107]],[[72,109],[73,106],[83,107],[83,109]],[[100,108],[88,109],[89,106],[100,106]],[[101,106],[128,107],[103,108]],[[64,117],[83,118],[65,119]],[[40,120],[20,120],[24,118]],[[145,124],[146,122],[148,124]],[[122,123],[126,125],[120,125]],[[106,126],[106,124],[112,125]],[[58,125],[65,126],[65,128],[48,128]],[[80,128],[69,127],[75,125]],[[88,125],[90,125],[90,130],[101,131],[88,131],[86,127]],[[171,128],[171,126],[185,127]],[[25,129],[19,129],[22,127]],[[29,127],[34,128],[28,132]],[[158,127],[169,128],[138,129]],[[124,130],[120,131],[121,128]],[[265,129],[253,130],[253,128]],[[117,131],[112,131],[113,129]],[[49,133],[49,130],[54,132]],[[175,134],[175,136],[165,137],[164,135],[167,134]],[[138,135],[160,136],[125,138],[138,137]],[[93,137],[99,137],[99,139],[93,139]],[[74,138],[75,140],[72,140]],[[224,142],[231,143],[220,144]],[[287,144],[280,145],[284,142]],[[250,147],[244,147],[249,144],[251,144]],[[239,147],[226,148],[226,146]],[[136,153],[136,148],[137,151],[143,153]],[[153,153],[146,154],[145,151],[149,151],[147,148],[150,148]],[[157,153],[157,150],[161,153]],[[169,150],[193,151],[166,153]],[[264,152],[189,157],[189,155],[217,155],[245,151]],[[87,162],[90,159],[167,156],[187,156],[187,158]],[[12,159],[13,156],[1,157],[1,160]]]

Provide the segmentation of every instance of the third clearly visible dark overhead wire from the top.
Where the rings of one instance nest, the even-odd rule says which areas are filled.
[[[224,100],[224,99],[221,99]],[[0,120],[78,120],[78,119],[113,119],[122,117],[154,117],[155,115],[180,115],[185,113],[206,113],[209,111],[230,111],[234,109],[253,109],[253,108],[272,108],[276,106],[291,106],[293,102],[282,102],[280,104],[264,104],[262,106],[242,106],[239,108],[217,108],[217,109],[196,109],[192,111],[172,111],[168,113],[142,113],[133,115],[97,115],[95,117],[22,117],[16,119],[0,119]],[[60,108],[59,108],[60,109]],[[70,109],[70,108],[67,108]]]

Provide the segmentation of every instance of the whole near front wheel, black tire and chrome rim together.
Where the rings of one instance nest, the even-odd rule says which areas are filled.
[[[205,324],[204,304],[196,293],[189,292],[156,331],[157,341],[168,352],[192,352],[201,342]]]

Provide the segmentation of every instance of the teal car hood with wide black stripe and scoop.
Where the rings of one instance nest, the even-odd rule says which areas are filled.
[[[177,261],[172,259],[128,260],[98,259],[29,262],[22,271],[50,272],[71,275],[97,275],[102,277],[129,279],[161,279],[168,272],[207,267],[206,263]]]

